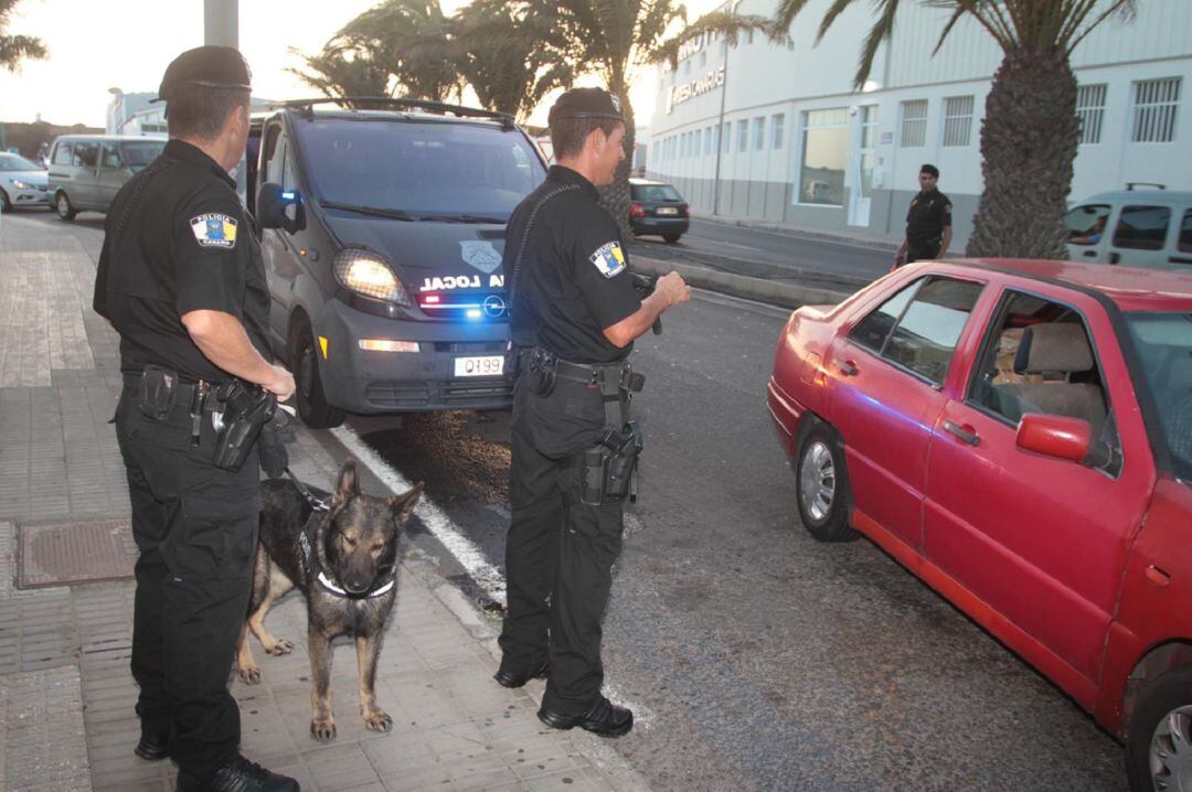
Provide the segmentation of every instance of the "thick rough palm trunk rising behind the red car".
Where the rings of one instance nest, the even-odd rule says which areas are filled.
[[[1063,52],[1007,52],[985,105],[969,256],[1067,258],[1063,217],[1080,125]]]

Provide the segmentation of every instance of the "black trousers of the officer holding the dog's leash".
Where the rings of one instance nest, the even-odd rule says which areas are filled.
[[[154,420],[125,385],[116,430],[141,551],[132,617],[137,712],[144,725],[169,734],[179,767],[205,781],[240,746],[228,676],[253,585],[260,466],[254,450],[237,473],[215,467],[210,414],[193,447],[188,412],[178,405]]]

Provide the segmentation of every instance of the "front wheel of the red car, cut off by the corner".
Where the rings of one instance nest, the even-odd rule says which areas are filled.
[[[1135,701],[1125,735],[1131,792],[1192,786],[1192,667],[1147,682]]]

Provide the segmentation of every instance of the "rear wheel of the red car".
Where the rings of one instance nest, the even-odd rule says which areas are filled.
[[[851,542],[861,536],[849,528],[849,472],[844,441],[828,424],[815,424],[799,444],[795,492],[799,518],[820,542]]]

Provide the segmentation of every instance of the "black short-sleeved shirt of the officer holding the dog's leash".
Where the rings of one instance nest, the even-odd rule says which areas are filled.
[[[93,303],[120,333],[120,370],[155,363],[191,379],[231,379],[182,325],[198,310],[236,317],[272,358],[269,292],[247,214],[228,172],[181,141],[120,188],[104,223]]]

